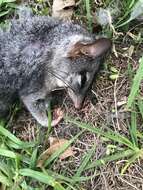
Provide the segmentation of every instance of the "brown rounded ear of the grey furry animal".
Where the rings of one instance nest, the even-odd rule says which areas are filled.
[[[89,57],[99,57],[111,49],[112,42],[107,38],[100,38],[93,43],[84,44],[77,42],[68,53],[68,57],[75,58],[81,55],[87,55]]]

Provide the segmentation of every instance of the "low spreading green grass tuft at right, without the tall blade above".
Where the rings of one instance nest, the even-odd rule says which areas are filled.
[[[126,171],[125,169],[129,167],[129,165],[133,164],[137,159],[141,158],[143,155],[143,148],[138,145],[138,140],[141,139],[140,137],[137,137],[136,119],[137,117],[134,114],[132,114],[132,121],[129,129],[130,137],[128,138],[110,129],[108,129],[108,132],[105,132],[104,130],[95,128],[90,124],[81,123],[68,118],[68,122],[75,124],[79,128],[86,129],[87,131],[90,131],[91,133],[94,133],[96,135],[100,135],[101,137],[106,137],[106,139],[108,139],[112,145],[116,144],[117,148],[114,154],[104,156],[103,158],[96,161],[92,161],[88,164],[88,166],[86,166],[85,169],[91,169],[97,166],[99,167],[111,161],[126,159],[126,164],[124,165],[121,171],[121,174],[123,174]]]

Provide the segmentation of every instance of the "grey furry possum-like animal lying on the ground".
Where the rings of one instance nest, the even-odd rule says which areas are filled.
[[[43,126],[54,89],[65,88],[79,108],[102,58],[108,39],[95,40],[79,25],[50,17],[12,20],[0,30],[0,116],[19,97]]]

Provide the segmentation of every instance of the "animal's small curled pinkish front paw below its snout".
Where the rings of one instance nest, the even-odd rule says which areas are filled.
[[[51,122],[51,126],[54,127],[59,124],[59,122],[63,119],[64,113],[60,108],[54,109],[53,112],[53,120]]]

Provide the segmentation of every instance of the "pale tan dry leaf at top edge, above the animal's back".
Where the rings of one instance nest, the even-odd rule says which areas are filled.
[[[54,0],[52,6],[52,16],[62,19],[71,19],[75,0]]]

